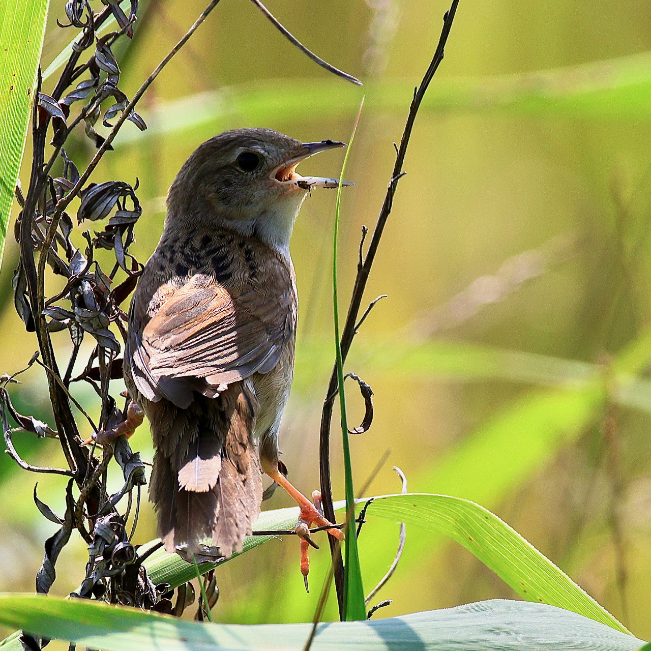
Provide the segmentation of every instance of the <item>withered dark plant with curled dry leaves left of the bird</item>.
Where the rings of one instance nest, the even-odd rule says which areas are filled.
[[[14,408],[7,385],[15,381],[17,374],[1,378],[0,414],[7,450],[21,468],[69,477],[65,490],[66,510],[62,517],[38,499],[36,488],[34,492],[41,514],[60,527],[45,543],[44,561],[36,576],[36,590],[41,593],[49,592],[56,578],[57,558],[76,530],[89,545],[89,561],[85,579],[72,596],[136,605],[176,615],[180,615],[194,601],[194,592],[188,583],[178,589],[173,605],[170,586],[165,583],[154,585],[143,566],[146,557],[158,547],[153,546],[138,556],[132,544],[141,487],[146,484],[145,465],[139,452],[132,452],[127,437],[120,436],[115,443],[105,444],[101,454],[96,454],[96,443],[102,441],[103,432],[113,430],[129,434],[142,420],[139,408],[130,404],[128,396],[120,409],[117,399],[111,395],[111,381],[122,378],[119,355],[126,339],[127,316],[121,305],[135,288],[142,270],[140,262],[129,251],[134,241],[133,229],[142,208],[136,194],[137,179],[133,185],[121,180],[98,184],[87,184],[87,181],[100,159],[112,149],[111,142],[126,120],[132,121],[141,130],[146,129],[145,121],[135,113],[135,105],[218,2],[212,0],[209,3],[131,100],[118,89],[120,66],[113,46],[119,39],[133,38],[138,0],[131,0],[128,16],[117,0],[102,0],[104,6],[98,12],[94,12],[90,0],[68,0],[68,23],[58,23],[59,27],[73,27],[81,31],[51,95],[42,92],[39,70],[32,115],[33,161],[29,186],[24,197],[20,189],[16,190],[22,208],[15,229],[16,240],[20,244],[20,262],[12,284],[16,310],[27,331],[35,332],[38,340],[38,352],[33,355],[27,368],[38,363],[46,373],[56,431]],[[314,61],[349,81],[359,83],[354,77],[313,55],[266,8],[258,1],[255,4]],[[100,36],[98,30],[111,15],[117,21],[118,29]],[[89,57],[80,62],[84,53],[89,53]],[[111,98],[113,103],[106,108],[104,103]],[[72,117],[71,109],[76,102],[85,104]],[[107,137],[94,128],[100,119],[104,126],[111,128]],[[116,120],[115,125],[111,125],[109,120]],[[96,153],[85,170],[79,173],[64,145],[70,133],[81,123]],[[51,150],[46,157],[48,139]],[[55,169],[59,170],[56,176]],[[83,232],[83,251],[73,243],[73,219],[66,212],[76,198],[81,200],[76,215],[78,224],[109,217],[103,230]],[[96,249],[107,249],[115,254],[115,261],[111,260],[108,273],[96,260]],[[54,296],[46,296],[47,266],[52,273],[65,279],[64,287]],[[72,354],[61,366],[55,355],[52,335],[63,331],[67,331],[72,340]],[[74,376],[75,368],[79,367],[81,346],[87,337],[92,337],[94,348],[83,371]],[[98,423],[92,421],[70,393],[70,386],[77,382],[88,383],[100,400]],[[96,437],[92,445],[85,445],[89,441],[82,440],[72,405],[89,422]],[[10,425],[10,419],[15,421],[15,429]],[[57,438],[68,468],[35,467],[23,461],[12,445],[12,434],[16,430],[26,430],[38,437]],[[124,485],[117,493],[109,495],[106,477],[107,466],[112,459],[122,469]],[[126,506],[122,507],[120,505],[125,498]],[[208,603],[201,600],[199,618],[214,605],[219,595],[214,575],[204,579],[204,589]],[[21,642],[23,647],[38,651],[48,641],[39,641],[23,634]]]

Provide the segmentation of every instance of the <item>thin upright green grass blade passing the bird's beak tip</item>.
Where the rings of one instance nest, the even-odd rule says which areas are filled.
[[[350,445],[348,444],[348,419],[346,418],[346,394],[344,392],[344,363],[341,356],[341,344],[339,333],[339,301],[337,299],[337,237],[339,236],[339,211],[341,207],[341,190],[344,174],[350,149],[355,139],[357,124],[364,106],[362,98],[357,112],[357,118],[353,125],[353,132],[346,148],[346,155],[341,166],[339,176],[339,187],[337,187],[337,204],[335,206],[335,232],[333,235],[332,249],[332,301],[333,320],[335,325],[335,351],[337,353],[337,384],[339,385],[339,407],[341,411],[341,432],[344,449],[344,476],[346,482],[346,549],[344,553],[344,620],[366,619],[366,607],[364,604],[364,587],[362,585],[362,570],[359,564],[359,549],[357,548],[357,536],[355,535],[355,490],[353,488],[353,469],[350,463]]]

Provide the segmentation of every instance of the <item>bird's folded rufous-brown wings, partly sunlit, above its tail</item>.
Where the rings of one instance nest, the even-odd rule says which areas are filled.
[[[225,286],[200,273],[180,287],[161,286],[163,301],[132,348],[141,393],[187,406],[193,391],[214,396],[223,385],[270,371],[296,326],[294,285],[287,281],[274,292],[273,281]]]

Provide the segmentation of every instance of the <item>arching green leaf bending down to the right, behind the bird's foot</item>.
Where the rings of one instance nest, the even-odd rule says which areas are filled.
[[[358,510],[365,502],[365,499],[358,501]],[[337,510],[344,506],[343,502],[335,504]],[[523,599],[556,605],[628,632],[522,536],[474,502],[428,493],[383,495],[375,498],[367,514],[448,536],[473,553]],[[258,531],[288,529],[296,524],[297,518],[298,508],[266,511],[258,518],[255,528]],[[247,536],[244,552],[269,539],[270,536]],[[141,547],[139,553],[142,550]],[[165,581],[173,587],[194,576],[191,564],[162,550],[147,559],[145,567],[154,583]],[[207,572],[212,567],[214,564],[204,564],[201,570]]]

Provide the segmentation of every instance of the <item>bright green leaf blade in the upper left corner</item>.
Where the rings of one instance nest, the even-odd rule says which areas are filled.
[[[25,150],[48,0],[0,5],[0,262]]]

